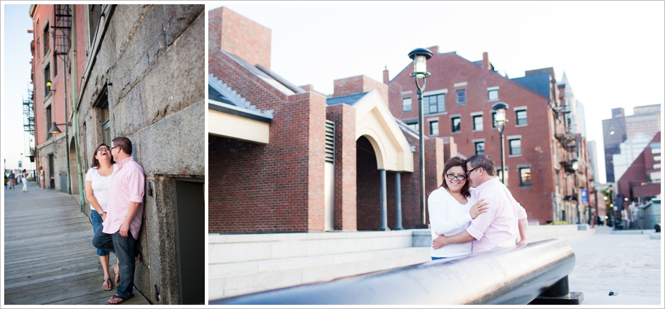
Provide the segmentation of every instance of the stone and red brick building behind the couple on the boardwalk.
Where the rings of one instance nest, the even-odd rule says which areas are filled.
[[[51,188],[79,194],[89,215],[80,188],[95,147],[132,140],[146,174],[134,285],[153,304],[204,303],[203,9],[30,7],[37,169],[55,175]],[[49,134],[53,122],[62,133]]]

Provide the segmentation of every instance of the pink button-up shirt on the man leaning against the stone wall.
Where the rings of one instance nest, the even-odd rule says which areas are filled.
[[[134,161],[134,157],[129,157],[118,163],[118,169],[113,173],[110,190],[108,190],[108,210],[106,220],[103,223],[103,232],[106,234],[118,232],[120,225],[125,222],[127,211],[129,211],[129,202],[139,202],[137,214],[129,223],[129,232],[132,232],[134,239],[139,237],[141,219],[143,218],[145,182],[146,175],[143,167]]]

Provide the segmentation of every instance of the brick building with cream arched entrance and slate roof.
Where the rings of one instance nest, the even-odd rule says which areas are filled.
[[[209,232],[422,225],[417,133],[391,115],[386,84],[338,79],[332,96],[293,85],[270,70],[270,29],[225,7],[208,20]],[[428,191],[451,149],[426,139]]]

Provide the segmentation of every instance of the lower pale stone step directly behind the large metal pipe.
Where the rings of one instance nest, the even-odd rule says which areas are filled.
[[[430,261],[429,247],[407,247],[208,266],[209,299],[332,280]]]

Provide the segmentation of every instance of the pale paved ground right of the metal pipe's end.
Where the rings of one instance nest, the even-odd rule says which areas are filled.
[[[582,305],[662,306],[662,242],[650,239],[654,230],[642,235],[595,229],[593,237],[568,242],[576,257],[570,290],[584,294]],[[609,296],[610,291],[621,296]]]

